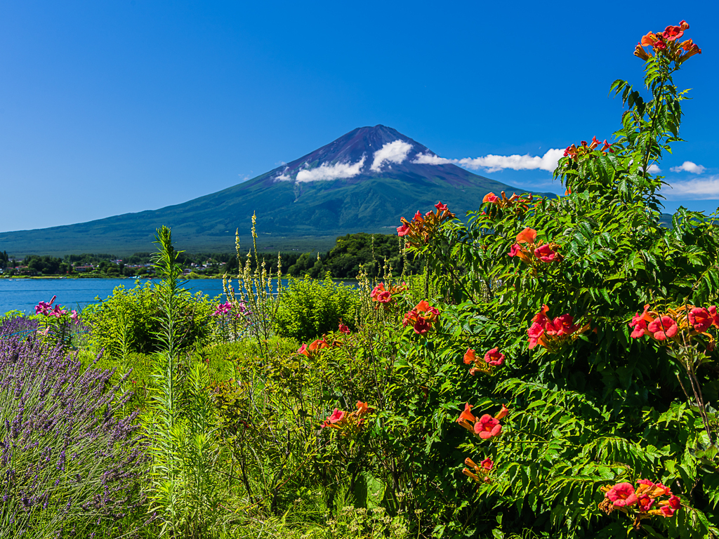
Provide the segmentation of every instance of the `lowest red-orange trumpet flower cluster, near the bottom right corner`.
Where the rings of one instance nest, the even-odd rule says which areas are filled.
[[[674,496],[669,487],[661,483],[653,483],[649,479],[639,479],[636,489],[631,483],[618,483],[602,487],[605,492],[605,499],[600,502],[599,508],[609,514],[615,510],[635,517],[634,527],[639,527],[639,522],[651,515],[661,517],[672,517],[682,501]],[[666,496],[667,499],[659,499]]]

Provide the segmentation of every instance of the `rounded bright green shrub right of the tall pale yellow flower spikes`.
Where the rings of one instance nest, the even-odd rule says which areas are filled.
[[[336,330],[340,319],[354,329],[358,308],[359,292],[333,282],[329,274],[321,281],[291,279],[280,298],[275,332],[307,341]]]

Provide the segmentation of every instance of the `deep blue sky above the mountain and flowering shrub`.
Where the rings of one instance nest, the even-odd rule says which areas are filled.
[[[184,202],[358,126],[449,159],[604,139],[610,83],[641,82],[634,45],[681,19],[702,55],[676,77],[693,88],[687,142],[660,166],[677,185],[667,209],[710,212],[718,6],[0,0],[0,231]],[[670,170],[687,161],[695,173]],[[559,190],[544,170],[477,172]]]

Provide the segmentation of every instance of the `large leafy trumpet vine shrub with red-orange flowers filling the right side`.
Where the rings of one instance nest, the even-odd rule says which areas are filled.
[[[688,30],[641,37],[644,90],[610,86],[619,129],[569,144],[563,197],[489,193],[467,224],[439,203],[398,228],[441,312],[416,333],[459,367],[428,384],[443,439],[464,433],[454,489],[472,498],[441,533],[719,537],[717,214],[661,226],[651,172],[682,141]]]

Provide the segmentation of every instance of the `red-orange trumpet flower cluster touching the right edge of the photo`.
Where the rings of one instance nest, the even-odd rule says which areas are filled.
[[[647,335],[655,341],[667,341],[679,338],[679,331],[685,331],[692,336],[702,333],[709,338],[710,343],[713,343],[713,336],[706,332],[711,326],[719,328],[719,313],[716,305],[708,309],[682,305],[677,309],[669,308],[666,313],[659,313],[656,310],[649,310],[647,304],[644,305],[644,312],[636,313],[629,323],[629,327],[633,328],[632,338]]]

